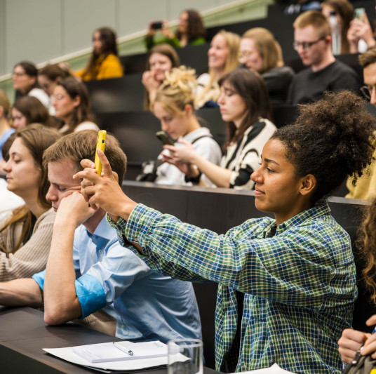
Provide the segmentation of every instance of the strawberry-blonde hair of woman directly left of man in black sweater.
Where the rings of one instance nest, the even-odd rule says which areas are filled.
[[[263,27],[254,27],[246,31],[241,39],[253,39],[255,47],[262,57],[262,68],[260,74],[267,72],[274,67],[284,65],[282,49],[274,35]]]

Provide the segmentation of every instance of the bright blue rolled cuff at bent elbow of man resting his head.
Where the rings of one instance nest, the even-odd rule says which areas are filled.
[[[81,318],[85,318],[106,306],[105,290],[95,276],[83,274],[79,279],[76,279],[74,286],[82,309]]]

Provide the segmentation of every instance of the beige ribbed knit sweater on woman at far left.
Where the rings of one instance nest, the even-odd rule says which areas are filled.
[[[43,213],[35,222],[31,238],[15,253],[12,253],[12,248],[17,241],[19,231],[16,225],[11,225],[0,233],[0,243],[11,252],[0,251],[0,281],[30,278],[33,274],[46,269],[54,220],[53,208]]]

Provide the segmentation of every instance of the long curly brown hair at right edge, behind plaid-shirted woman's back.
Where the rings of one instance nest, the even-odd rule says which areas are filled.
[[[376,199],[373,199],[358,232],[356,245],[365,258],[363,277],[370,292],[370,299],[376,305]]]

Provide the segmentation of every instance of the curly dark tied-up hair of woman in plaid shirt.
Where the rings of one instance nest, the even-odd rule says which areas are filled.
[[[325,92],[321,100],[298,105],[295,124],[272,136],[283,143],[298,177],[315,176],[312,203],[325,200],[347,175],[354,174],[355,185],[371,163],[376,119],[365,112],[365,104],[350,91]]]

